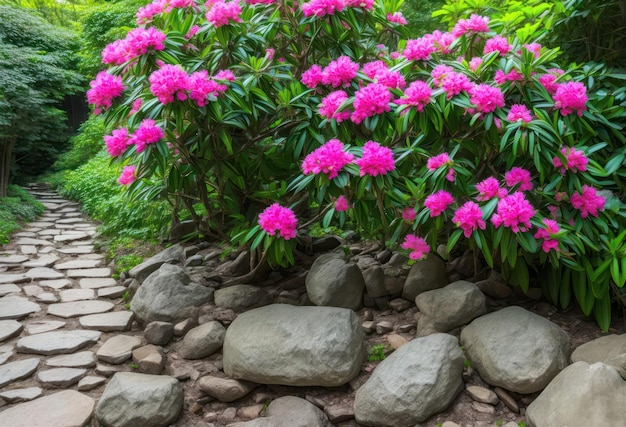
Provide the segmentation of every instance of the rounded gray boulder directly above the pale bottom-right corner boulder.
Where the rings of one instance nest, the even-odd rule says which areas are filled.
[[[521,307],[474,320],[461,332],[461,344],[487,383],[524,394],[543,390],[570,355],[561,328]]]

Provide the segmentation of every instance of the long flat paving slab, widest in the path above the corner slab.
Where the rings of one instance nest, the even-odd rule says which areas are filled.
[[[20,338],[17,351],[43,355],[73,353],[100,339],[99,331],[52,331]]]

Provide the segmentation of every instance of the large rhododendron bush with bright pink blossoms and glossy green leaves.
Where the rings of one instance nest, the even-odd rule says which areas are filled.
[[[273,267],[315,215],[412,260],[469,248],[608,328],[626,281],[610,70],[480,15],[411,39],[401,3],[141,8],[88,92],[120,184]]]

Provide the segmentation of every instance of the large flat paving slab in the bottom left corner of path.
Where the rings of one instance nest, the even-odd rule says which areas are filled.
[[[91,419],[95,404],[89,396],[64,390],[3,411],[2,422],[11,427],[84,426]]]

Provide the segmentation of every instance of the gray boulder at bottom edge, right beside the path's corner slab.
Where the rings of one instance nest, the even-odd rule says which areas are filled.
[[[166,427],[183,409],[183,388],[166,375],[118,372],[107,384],[96,407],[106,427]]]

